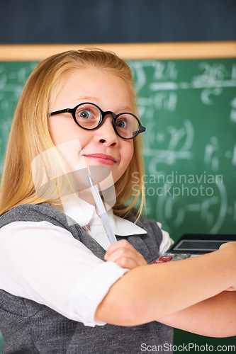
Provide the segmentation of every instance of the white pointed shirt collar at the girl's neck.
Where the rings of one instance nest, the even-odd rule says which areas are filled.
[[[74,219],[81,227],[87,224],[95,224],[99,216],[96,213],[94,205],[89,204],[85,200],[72,195],[69,200],[63,202],[64,213]],[[133,224],[133,222],[114,215],[113,210],[107,212],[108,221],[111,225],[113,233],[118,236],[130,236],[138,234],[147,234],[142,227]],[[100,218],[99,218],[100,219]]]

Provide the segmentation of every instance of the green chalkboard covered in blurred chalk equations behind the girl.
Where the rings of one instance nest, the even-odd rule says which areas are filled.
[[[0,62],[0,170],[16,102],[36,64]],[[162,222],[173,239],[186,232],[235,233],[236,60],[128,64],[135,76],[140,118],[147,127],[143,134],[147,216]],[[136,190],[134,183],[133,193]],[[175,331],[175,343],[216,349],[235,343],[235,338]]]

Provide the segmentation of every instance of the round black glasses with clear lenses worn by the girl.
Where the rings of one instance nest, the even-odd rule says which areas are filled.
[[[70,113],[74,122],[85,130],[97,129],[102,124],[106,115],[112,115],[112,124],[116,134],[127,140],[137,137],[137,135],[146,130],[145,127],[142,127],[140,120],[133,113],[125,112],[116,115],[116,113],[111,112],[111,110],[103,112],[103,110],[94,103],[80,103],[74,108],[65,108],[63,110],[49,113],[49,116],[61,113]]]

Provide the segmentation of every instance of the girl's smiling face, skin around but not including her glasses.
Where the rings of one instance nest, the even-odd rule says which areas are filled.
[[[130,86],[119,76],[101,69],[75,69],[70,72],[50,111],[74,108],[83,102],[95,103],[103,111],[116,114],[135,113]],[[72,147],[64,150],[64,157],[72,169],[79,166],[81,159],[86,166],[106,166],[111,169],[113,182],[116,183],[132,159],[133,140],[118,137],[112,120],[111,115],[106,115],[98,129],[89,131],[79,127],[70,113],[62,113],[49,118],[50,135],[55,146],[72,142],[64,144]]]

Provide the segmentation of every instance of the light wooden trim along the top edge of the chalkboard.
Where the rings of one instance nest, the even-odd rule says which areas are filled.
[[[86,47],[112,50],[123,59],[208,59],[236,57],[236,41],[64,45],[33,44],[0,45],[0,61],[40,61],[59,52],[84,49]]]

